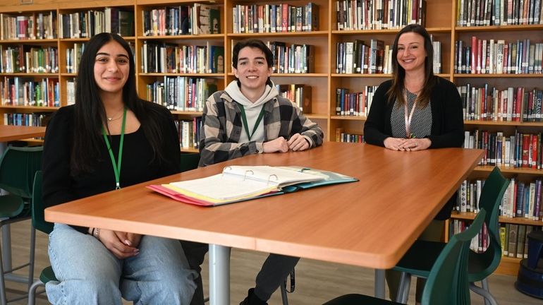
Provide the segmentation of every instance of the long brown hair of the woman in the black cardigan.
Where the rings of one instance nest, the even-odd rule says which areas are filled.
[[[422,85],[422,90],[417,96],[417,107],[424,108],[430,102],[432,89],[437,83],[437,78],[434,76],[434,47],[432,46],[430,35],[422,25],[406,25],[398,32],[398,35],[396,35],[392,47],[392,86],[386,94],[389,95],[389,102],[391,103],[396,99],[398,100],[398,106],[405,103],[405,98],[403,97],[405,89],[403,85],[403,80],[405,80],[405,69],[398,64],[398,59],[396,59],[396,57],[398,55],[398,40],[400,39],[400,36],[406,32],[415,32],[425,40],[425,51],[427,54],[425,58],[425,83]]]

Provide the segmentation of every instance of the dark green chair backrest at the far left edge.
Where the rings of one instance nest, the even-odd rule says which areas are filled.
[[[34,174],[42,169],[43,147],[8,147],[0,160],[0,189],[32,198]]]

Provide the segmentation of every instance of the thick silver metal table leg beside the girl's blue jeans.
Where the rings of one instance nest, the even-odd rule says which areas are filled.
[[[230,251],[228,246],[209,244],[209,303],[230,304]]]

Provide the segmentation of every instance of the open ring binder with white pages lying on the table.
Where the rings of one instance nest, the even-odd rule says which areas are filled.
[[[358,179],[305,167],[228,166],[210,177],[147,188],[183,203],[215,206],[353,181]]]

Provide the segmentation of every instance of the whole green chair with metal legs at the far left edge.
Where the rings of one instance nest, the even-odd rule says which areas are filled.
[[[0,227],[9,225],[13,222],[28,220],[30,217],[30,205],[32,201],[32,181],[34,174],[42,167],[41,146],[28,147],[8,147],[0,160],[0,189],[7,191],[7,194],[0,196]],[[8,246],[11,241],[6,234],[4,245]],[[8,274],[13,275],[13,271],[28,266],[28,287],[34,280],[34,244],[35,231],[30,232],[30,259],[28,263],[13,267],[10,270],[4,270],[4,261],[11,262],[11,257],[0,256],[0,303],[6,304],[6,283],[5,277]],[[11,263],[8,263],[11,265]],[[13,275],[13,277],[18,277]],[[25,280],[27,281],[27,280]],[[24,299],[26,296],[17,297],[9,301]]]

